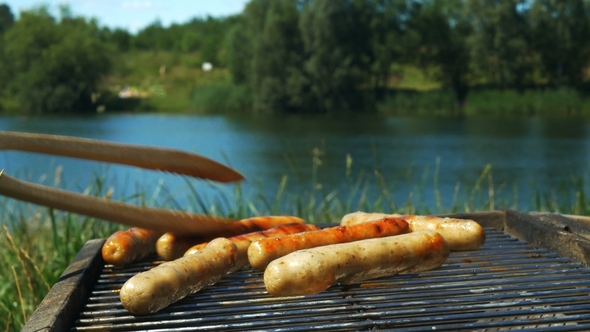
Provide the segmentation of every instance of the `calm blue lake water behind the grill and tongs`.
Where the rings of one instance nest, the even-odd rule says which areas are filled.
[[[240,171],[247,179],[244,195],[256,202],[272,202],[287,179],[286,191],[297,195],[347,200],[353,193],[356,201],[386,191],[396,206],[411,203],[438,212],[439,204],[444,210],[456,196],[463,203],[473,197],[485,202],[493,194],[495,208],[529,210],[537,193],[572,200],[590,164],[590,123],[576,119],[122,114],[0,117],[0,130],[195,152]],[[473,195],[486,165],[490,172]],[[192,204],[187,183],[214,200],[220,191],[235,189],[127,166],[0,152],[0,168],[28,181],[53,185],[58,166],[60,186],[68,190],[84,191],[98,174],[116,198],[142,191],[147,204],[170,204],[173,197],[182,209]]]

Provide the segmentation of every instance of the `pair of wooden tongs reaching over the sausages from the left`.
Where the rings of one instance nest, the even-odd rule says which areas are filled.
[[[243,180],[237,171],[197,154],[67,136],[0,132],[0,150],[19,150],[137,166],[217,182]],[[0,171],[0,195],[128,226],[183,235],[212,235],[233,221],[140,207],[21,181]]]

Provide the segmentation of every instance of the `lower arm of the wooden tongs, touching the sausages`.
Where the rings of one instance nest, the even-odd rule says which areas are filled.
[[[230,219],[173,210],[139,207],[107,199],[28,183],[0,171],[0,194],[26,202],[53,207],[128,226],[211,236],[232,228]]]

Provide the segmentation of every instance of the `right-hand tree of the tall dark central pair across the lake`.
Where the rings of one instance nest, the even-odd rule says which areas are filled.
[[[305,74],[316,112],[367,109],[370,29],[353,1],[315,0],[303,9],[300,29]]]

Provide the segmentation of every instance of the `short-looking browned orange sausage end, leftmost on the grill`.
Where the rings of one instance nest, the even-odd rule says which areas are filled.
[[[124,266],[145,258],[156,251],[160,233],[133,227],[117,231],[102,246],[102,258],[107,264]]]

